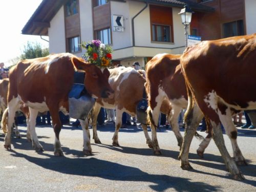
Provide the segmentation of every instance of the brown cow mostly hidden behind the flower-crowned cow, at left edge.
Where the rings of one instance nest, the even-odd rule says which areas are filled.
[[[0,80],[0,108],[1,108],[1,117],[4,113],[4,111],[7,108],[7,94],[8,94],[8,86],[9,86],[9,78],[4,78]],[[28,119],[28,108],[21,108],[20,111],[24,113],[26,118]],[[15,116],[15,122],[14,122],[14,128],[15,128],[15,135],[17,138],[20,138],[20,133],[17,126],[17,120]],[[28,141],[31,141],[31,137],[29,132],[27,132],[27,139]]]

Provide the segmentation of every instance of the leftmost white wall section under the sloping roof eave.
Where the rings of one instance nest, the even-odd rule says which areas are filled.
[[[51,20],[50,26],[51,27],[48,29],[50,54],[66,52],[65,19],[63,6]]]

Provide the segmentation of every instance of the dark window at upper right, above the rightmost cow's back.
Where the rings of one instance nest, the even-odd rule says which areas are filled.
[[[223,38],[244,35],[243,20],[223,24]]]

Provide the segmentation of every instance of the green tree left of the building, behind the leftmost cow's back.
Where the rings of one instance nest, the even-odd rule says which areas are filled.
[[[49,55],[49,48],[42,49],[38,42],[27,42],[24,46],[23,54],[20,55],[20,59],[33,59],[37,57],[45,57]]]

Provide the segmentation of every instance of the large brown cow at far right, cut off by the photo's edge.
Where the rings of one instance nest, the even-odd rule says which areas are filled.
[[[186,113],[188,125],[182,150],[181,166],[191,168],[188,150],[196,131],[197,105],[203,112],[227,169],[235,179],[244,179],[237,164],[246,161],[237,144],[237,129],[232,114],[240,110],[256,109],[256,34],[203,41],[189,47],[181,57],[189,105]],[[194,99],[193,99],[194,98]],[[234,159],[224,144],[221,123],[231,140]]]

